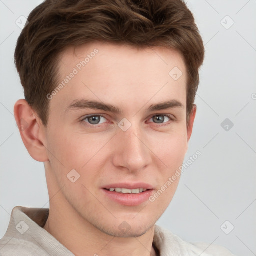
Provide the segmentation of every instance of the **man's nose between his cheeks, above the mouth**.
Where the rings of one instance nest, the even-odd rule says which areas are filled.
[[[113,164],[117,168],[139,171],[152,162],[146,134],[132,125],[128,130],[118,130],[114,137]]]

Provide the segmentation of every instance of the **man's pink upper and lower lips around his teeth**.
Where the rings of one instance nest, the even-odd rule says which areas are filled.
[[[133,194],[133,193],[120,193],[120,192],[115,192],[115,191],[109,191],[107,189],[109,188],[127,188],[127,189],[135,189],[135,188],[146,188],[148,190],[138,193],[138,194]],[[151,185],[146,184],[146,183],[115,183],[115,184],[110,184],[106,185],[101,188],[101,191],[104,193],[104,195],[114,201],[117,202],[121,205],[126,205],[126,206],[138,206],[146,201],[148,201],[148,198],[150,195],[153,193],[153,188]]]

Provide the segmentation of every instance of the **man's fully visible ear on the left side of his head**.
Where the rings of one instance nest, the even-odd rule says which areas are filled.
[[[47,161],[46,148],[39,139],[44,137],[45,126],[25,99],[19,99],[15,103],[14,116],[28,153],[36,161]]]

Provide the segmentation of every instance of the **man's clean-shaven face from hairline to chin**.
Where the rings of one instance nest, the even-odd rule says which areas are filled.
[[[142,235],[170,203],[187,150],[184,61],[108,43],[59,58],[44,130],[48,189],[62,188],[62,210],[104,233]]]

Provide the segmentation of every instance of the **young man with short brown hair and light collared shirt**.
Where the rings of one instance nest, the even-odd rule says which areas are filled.
[[[14,114],[50,208],[15,207],[0,253],[232,255],[155,225],[178,185],[204,57],[185,3],[46,0],[28,22]]]

